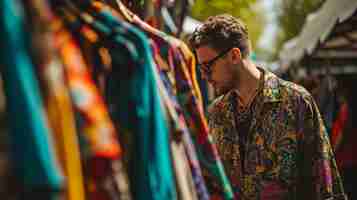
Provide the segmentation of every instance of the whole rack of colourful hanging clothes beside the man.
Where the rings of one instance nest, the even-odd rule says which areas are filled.
[[[232,199],[193,53],[115,3],[1,1],[17,197]]]

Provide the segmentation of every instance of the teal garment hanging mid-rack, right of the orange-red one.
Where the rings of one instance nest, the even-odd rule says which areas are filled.
[[[108,45],[114,71],[109,84],[113,89],[108,90],[114,98],[108,104],[115,107],[120,134],[131,135],[129,174],[134,199],[176,199],[167,119],[156,87],[148,39],[110,13],[97,14],[101,22],[116,31],[110,35]]]

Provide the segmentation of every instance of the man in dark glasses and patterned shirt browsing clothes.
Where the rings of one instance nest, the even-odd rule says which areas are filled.
[[[312,96],[249,60],[239,19],[210,17],[190,43],[219,96],[208,121],[236,199],[347,199]]]

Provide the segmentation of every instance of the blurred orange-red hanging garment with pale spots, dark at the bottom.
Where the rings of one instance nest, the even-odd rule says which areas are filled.
[[[76,41],[62,29],[57,32],[60,52],[74,107],[80,117],[79,131],[89,144],[85,168],[88,199],[131,199],[122,149],[102,97],[91,79]]]

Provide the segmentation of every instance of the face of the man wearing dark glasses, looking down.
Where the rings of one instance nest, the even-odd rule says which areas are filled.
[[[212,84],[216,95],[227,93],[237,80],[237,67],[232,63],[231,50],[217,52],[208,46],[196,49],[202,77]]]

